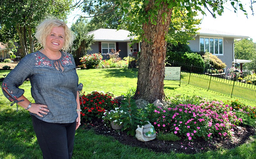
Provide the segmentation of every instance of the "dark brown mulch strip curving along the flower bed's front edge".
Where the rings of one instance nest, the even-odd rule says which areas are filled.
[[[127,135],[126,132],[119,130],[113,130],[112,128],[105,126],[99,119],[92,120],[91,124],[84,124],[85,129],[92,128],[96,134],[102,134],[106,136],[112,136],[120,143],[125,145],[137,146],[141,148],[148,148],[155,152],[182,152],[186,154],[195,154],[199,152],[205,152],[208,150],[217,150],[219,148],[231,149],[235,148],[250,140],[250,136],[256,134],[256,131],[251,126],[240,126],[234,128],[234,137],[228,139],[213,138],[212,141],[205,141],[202,138],[192,141],[161,141],[158,139],[142,142],[133,138],[131,135]]]

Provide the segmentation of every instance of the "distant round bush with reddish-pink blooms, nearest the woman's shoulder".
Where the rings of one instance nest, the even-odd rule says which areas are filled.
[[[80,58],[80,62],[82,63],[79,67],[81,69],[95,69],[99,67],[100,63],[102,62],[101,54],[89,54],[84,55]]]

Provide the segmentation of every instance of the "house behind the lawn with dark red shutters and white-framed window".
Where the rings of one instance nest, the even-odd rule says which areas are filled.
[[[92,50],[87,51],[87,54],[101,53],[103,59],[108,58],[108,54],[121,50],[119,52],[119,57],[124,58],[129,56],[133,52],[140,51],[140,46],[134,44],[131,46],[131,40],[133,37],[129,36],[129,31],[116,29],[97,29],[89,32],[87,35],[94,35],[94,44],[91,45]],[[131,39],[131,40],[130,40]],[[141,44],[141,43],[140,43]]]

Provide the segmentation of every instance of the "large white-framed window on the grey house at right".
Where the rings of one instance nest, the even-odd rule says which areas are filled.
[[[200,51],[212,54],[223,54],[223,39],[200,37]]]

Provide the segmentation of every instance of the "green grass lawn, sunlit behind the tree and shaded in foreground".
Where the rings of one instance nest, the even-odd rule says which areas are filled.
[[[4,72],[0,70],[0,76]],[[137,69],[89,69],[77,70],[79,82],[84,84],[86,93],[97,91],[110,91],[114,95],[119,96],[126,92],[130,87],[136,87]],[[175,81],[164,81],[165,93],[170,95],[196,94],[205,98],[216,100],[235,100],[225,95],[218,94],[213,91],[207,91],[203,88],[198,88],[188,84],[181,83],[181,86],[175,85]],[[168,85],[167,85],[168,84]],[[20,87],[25,90],[25,96],[33,101],[30,94],[30,83],[24,82]],[[246,105],[255,106],[255,102],[239,99],[240,102]],[[112,137],[96,135],[92,130],[86,130],[80,127],[76,131],[75,147],[73,158],[81,159],[133,159],[133,158],[157,158],[157,159],[172,159],[172,158],[256,158],[256,141],[252,138],[251,141],[238,146],[234,149],[220,149],[198,154],[183,154],[183,153],[157,153],[146,148],[132,147],[123,145]],[[41,159],[41,151],[37,144],[36,136],[33,131],[31,117],[25,109],[19,107],[16,112],[16,106],[10,107],[10,102],[0,93],[0,158],[2,159]]]

